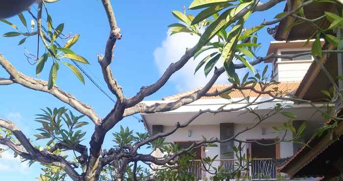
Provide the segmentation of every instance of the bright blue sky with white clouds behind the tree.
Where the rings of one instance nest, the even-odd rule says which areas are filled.
[[[117,42],[114,61],[111,64],[113,74],[119,84],[122,85],[126,97],[135,95],[142,86],[147,86],[158,79],[162,71],[172,62],[176,61],[182,55],[185,48],[196,43],[196,37],[190,35],[167,36],[168,25],[176,23],[177,20],[172,16],[172,10],[182,11],[183,6],[188,6],[192,0],[116,0],[113,2],[118,26],[122,30],[123,39]],[[34,5],[37,7],[37,5]],[[246,27],[258,25],[264,19],[271,20],[275,14],[283,10],[284,4],[275,6],[271,11],[256,13],[250,17]],[[98,82],[98,84],[107,91],[102,80],[101,70],[98,66],[97,54],[103,54],[105,43],[109,33],[109,25],[100,0],[60,0],[54,4],[48,4],[49,13],[53,18],[54,26],[59,23],[65,23],[64,33],[77,33],[81,37],[73,51],[87,58],[91,65],[83,66],[86,71]],[[32,8],[32,12],[36,12]],[[195,14],[188,10],[188,13]],[[31,18],[27,12],[24,13],[27,22]],[[8,19],[15,23],[22,31],[25,27],[20,23],[17,17]],[[1,23],[0,34],[13,31],[10,26]],[[267,34],[267,28],[259,33],[262,47],[258,52],[259,56],[266,55],[269,42],[272,37]],[[21,38],[0,37],[0,52],[4,55],[18,70],[27,75],[35,77],[35,67],[27,63],[24,52],[25,48],[29,52],[37,51],[36,38],[31,37],[24,45],[18,46]],[[59,41],[63,44],[64,41]],[[42,49],[43,47],[41,47]],[[193,62],[193,61],[192,61]],[[193,76],[193,71],[197,62],[190,63],[178,74],[172,76],[163,89],[147,97],[146,100],[161,99],[164,96],[196,88],[205,83],[206,79],[202,72]],[[62,67],[62,66],[61,66]],[[258,66],[262,69],[264,66]],[[241,70],[243,73],[246,70]],[[38,77],[48,79],[49,64]],[[0,77],[8,77],[7,73],[0,68]],[[226,83],[225,77],[222,77],[219,83]],[[105,95],[86,78],[86,85],[82,85],[72,72],[62,67],[58,74],[56,83],[63,90],[73,93],[79,100],[91,105],[99,116],[105,116],[113,107]],[[107,91],[110,95],[111,93]],[[20,85],[10,85],[0,87],[0,116],[13,120],[31,139],[34,139],[35,131],[31,128],[38,128],[38,124],[33,121],[34,114],[40,113],[40,108],[61,107],[66,104],[58,101],[53,96],[26,89]],[[76,113],[74,111],[74,113]],[[139,115],[137,115],[140,117]],[[85,118],[86,119],[86,118]],[[124,118],[121,125],[129,126],[136,132],[144,132],[144,126],[134,117]],[[93,133],[94,126],[90,123],[85,127],[86,140]],[[119,130],[116,126],[110,133]],[[107,134],[103,148],[110,148],[112,145],[112,134]],[[143,152],[147,152],[143,150]],[[18,159],[12,158],[12,153],[3,154],[0,158],[0,175],[3,181],[34,181],[40,173],[40,165],[33,164],[28,168],[21,164]],[[14,174],[15,173],[15,174]]]

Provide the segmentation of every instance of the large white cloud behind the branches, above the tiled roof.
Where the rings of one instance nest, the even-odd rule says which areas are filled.
[[[161,74],[171,63],[180,59],[180,57],[185,53],[186,48],[193,47],[199,40],[198,36],[190,35],[188,33],[177,33],[172,36],[169,36],[169,34],[170,33],[168,32],[166,39],[162,42],[162,45],[157,47],[153,53],[155,63]],[[203,72],[204,66],[200,68],[194,75],[196,66],[206,55],[208,55],[208,53],[210,53],[210,50],[208,50],[207,53],[200,54],[198,57],[196,57],[195,61],[193,58],[191,58],[183,68],[172,75],[171,81],[176,84],[178,91],[188,91],[194,88],[202,87],[212,77],[213,70],[207,77],[205,77]],[[221,67],[220,64],[221,62],[218,61],[217,67]],[[224,73],[216,82],[216,84],[227,83],[227,76]]]

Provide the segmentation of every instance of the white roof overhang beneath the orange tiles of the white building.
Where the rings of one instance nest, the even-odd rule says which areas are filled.
[[[271,97],[259,98],[256,102],[269,100]],[[236,98],[237,100],[239,98]],[[233,99],[232,101],[235,101]],[[253,97],[251,98],[253,99]],[[148,105],[154,103],[167,103],[167,101],[146,101]],[[236,123],[236,124],[251,124],[255,123],[256,116],[251,113],[245,113],[246,110],[242,109],[246,103],[234,103],[229,104],[227,99],[199,99],[189,105],[181,106],[180,108],[165,112],[165,113],[143,113],[142,117],[147,125],[147,129],[151,131],[152,125],[164,125],[175,126],[177,122],[184,124],[192,117],[199,113],[199,110],[218,110],[220,107],[224,107],[224,111],[221,113],[202,113],[197,116],[196,119],[190,125],[217,125],[220,123]],[[260,105],[250,106],[250,108],[256,108],[255,112],[263,115],[269,112],[276,103],[282,105],[289,105],[293,108],[285,108],[285,111],[292,112],[297,115],[298,120],[320,121],[321,115],[310,105],[294,105],[291,101],[273,100],[265,102]],[[225,106],[226,105],[226,106]],[[235,109],[235,110],[233,110]],[[225,112],[226,111],[226,112]],[[317,112],[317,113],[316,113]],[[315,113],[315,114],[314,114]],[[313,115],[314,114],[314,115]],[[313,116],[311,116],[313,115]],[[289,118],[277,114],[265,120],[267,123],[283,123],[288,121]]]

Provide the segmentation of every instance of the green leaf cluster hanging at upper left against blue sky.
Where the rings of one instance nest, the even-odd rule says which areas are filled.
[[[82,56],[76,54],[75,52],[73,52],[73,50],[71,50],[70,48],[77,43],[80,35],[75,34],[74,36],[71,35],[64,35],[63,34],[63,29],[64,29],[64,23],[60,23],[58,24],[56,27],[53,26],[52,23],[52,18],[48,13],[48,10],[45,6],[45,10],[47,13],[47,27],[45,28],[44,26],[42,26],[44,32],[42,31],[43,34],[43,42],[48,42],[45,43],[45,53],[43,53],[42,55],[37,55],[34,56],[32,54],[29,54],[31,57],[27,57],[28,60],[32,59],[34,61],[33,64],[36,64],[36,75],[40,75],[40,73],[43,71],[46,63],[49,61],[49,59],[52,62],[51,68],[50,68],[50,72],[49,72],[49,84],[48,84],[48,89],[52,89],[52,87],[55,85],[56,81],[57,81],[57,72],[59,70],[59,63],[62,63],[63,65],[65,65],[67,68],[70,68],[72,70],[72,72],[75,74],[75,76],[83,83],[85,84],[85,80],[83,77],[83,74],[80,72],[79,68],[77,66],[77,62],[78,63],[82,63],[82,64],[89,64],[89,62]],[[33,16],[33,14],[31,13],[31,15]],[[35,22],[32,20],[31,21],[31,32],[28,30],[28,24],[26,23],[26,19],[25,16],[20,13],[18,15],[19,19],[21,20],[21,22],[23,23],[23,25],[25,26],[25,29],[27,30],[26,32],[21,31],[17,25],[7,21],[7,20],[0,20],[0,22],[2,23],[6,23],[8,25],[10,25],[11,27],[15,28],[16,31],[12,31],[12,32],[7,32],[3,34],[3,37],[17,37],[17,36],[23,36],[24,38],[19,42],[18,45],[23,45],[26,41],[27,38],[33,37],[37,34],[39,34],[39,32],[37,31],[33,31],[33,28],[35,27]],[[37,17],[33,16],[34,19],[37,20]],[[64,46],[60,46],[57,42],[58,39],[66,39],[69,38],[69,40],[67,41],[67,43]],[[70,59],[73,64],[76,65],[73,66],[72,64],[65,62],[65,59]]]

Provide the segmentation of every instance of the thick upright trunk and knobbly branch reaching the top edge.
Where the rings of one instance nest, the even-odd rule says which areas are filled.
[[[96,177],[98,177],[99,155],[103,140],[107,131],[110,130],[117,123],[117,121],[122,118],[121,115],[123,114],[123,103],[125,99],[122,87],[119,86],[117,80],[114,79],[109,66],[112,63],[116,42],[118,39],[122,38],[122,34],[120,28],[118,28],[117,26],[116,17],[110,0],[101,0],[101,2],[105,9],[108,23],[110,25],[110,35],[106,43],[105,55],[99,55],[98,62],[100,64],[107,87],[117,97],[117,103],[114,110],[111,111],[111,113],[113,114],[109,117],[105,117],[102,120],[102,123],[104,123],[105,125],[97,125],[94,134],[92,135],[92,139],[90,142],[90,157],[86,172],[86,178],[90,181],[93,181],[96,179]]]

